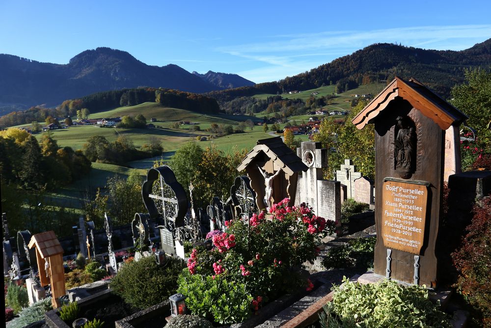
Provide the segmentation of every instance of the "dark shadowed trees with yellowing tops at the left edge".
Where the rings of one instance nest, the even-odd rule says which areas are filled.
[[[47,192],[81,179],[90,167],[82,151],[59,147],[50,133],[38,142],[23,129],[0,131],[1,204],[11,231],[70,234],[77,215],[64,206],[48,205]]]

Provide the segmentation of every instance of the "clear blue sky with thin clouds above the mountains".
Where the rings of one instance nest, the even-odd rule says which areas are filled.
[[[490,12],[490,0],[0,0],[0,53],[65,64],[104,46],[260,83],[377,42],[467,49],[491,37]]]

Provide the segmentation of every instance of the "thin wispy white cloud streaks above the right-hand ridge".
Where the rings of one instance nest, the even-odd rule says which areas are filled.
[[[221,46],[215,50],[257,61],[262,67],[240,74],[255,82],[265,82],[298,74],[373,43],[396,42],[426,49],[463,50],[490,36],[491,25],[322,31],[271,35],[263,37],[263,42]],[[310,60],[305,60],[306,57],[310,57]]]

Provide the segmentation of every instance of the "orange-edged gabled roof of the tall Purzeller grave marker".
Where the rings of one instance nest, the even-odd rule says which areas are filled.
[[[365,108],[352,120],[356,128],[362,129],[372,123],[396,97],[401,97],[419,110],[426,117],[433,119],[436,124],[446,130],[454,123],[460,123],[468,117],[457,108],[441,99],[432,90],[426,88],[415,79],[404,81],[395,77]]]

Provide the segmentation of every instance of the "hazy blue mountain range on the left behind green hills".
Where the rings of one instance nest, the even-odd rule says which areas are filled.
[[[68,64],[0,54],[0,106],[55,106],[99,91],[143,86],[203,93],[253,85],[236,74],[191,74],[174,64],[150,66],[110,48],[86,50]]]

